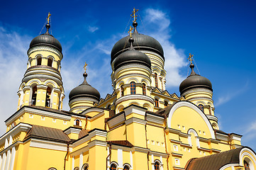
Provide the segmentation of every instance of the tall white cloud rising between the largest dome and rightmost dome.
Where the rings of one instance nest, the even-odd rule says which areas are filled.
[[[170,28],[170,18],[163,11],[148,8],[145,11],[145,28],[149,31],[150,36],[160,42],[165,52],[165,70],[167,71],[167,87],[179,86],[185,77],[180,74],[180,69],[185,67],[186,56],[184,50],[177,49],[171,42],[172,37]]]

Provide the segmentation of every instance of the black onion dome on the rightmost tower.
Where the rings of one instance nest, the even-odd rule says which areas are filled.
[[[189,89],[196,88],[206,88],[213,91],[211,81],[206,79],[206,77],[201,77],[199,74],[196,74],[194,72],[194,64],[190,64],[190,68],[191,74],[179,85],[180,94],[183,94],[184,91],[187,91]]]

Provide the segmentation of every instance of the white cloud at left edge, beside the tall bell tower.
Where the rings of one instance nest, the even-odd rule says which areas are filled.
[[[8,31],[7,31],[8,30]],[[26,72],[26,52],[31,38],[0,26],[0,133],[6,128],[2,123],[16,112],[18,86]]]

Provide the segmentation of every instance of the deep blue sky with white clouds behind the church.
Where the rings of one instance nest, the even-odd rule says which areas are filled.
[[[213,84],[221,130],[244,135],[256,150],[255,1],[3,1],[0,6],[0,132],[16,111],[18,86],[26,71],[26,51],[52,13],[51,31],[63,49],[65,106],[69,91],[89,84],[101,97],[111,94],[110,52],[127,35],[130,13],[138,8],[138,32],[151,35],[165,51],[167,90],[179,95],[191,52],[199,71]],[[130,22],[129,22],[130,21]],[[45,33],[45,28],[42,33]]]

